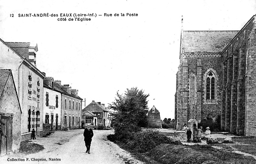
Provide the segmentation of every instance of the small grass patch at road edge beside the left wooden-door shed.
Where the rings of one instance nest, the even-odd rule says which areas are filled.
[[[20,142],[20,152],[25,154],[40,152],[44,149],[43,145],[31,143],[31,141]]]

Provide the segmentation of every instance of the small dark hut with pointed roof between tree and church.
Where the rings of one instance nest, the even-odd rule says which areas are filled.
[[[160,112],[156,109],[155,106],[153,106],[148,112],[147,120],[149,128],[162,128]]]

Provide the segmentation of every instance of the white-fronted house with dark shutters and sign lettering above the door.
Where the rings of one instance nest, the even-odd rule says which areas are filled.
[[[52,77],[44,78],[44,114],[43,123],[50,124],[50,130],[60,130],[61,92],[54,90]]]

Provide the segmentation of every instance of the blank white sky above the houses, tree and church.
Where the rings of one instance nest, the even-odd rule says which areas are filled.
[[[29,13],[58,17],[19,17]],[[69,21],[75,13],[94,17]],[[0,0],[0,38],[36,43],[37,68],[77,89],[85,105],[108,106],[117,91],[137,87],[164,120],[174,119],[181,16],[184,30],[205,31],[240,30],[255,14],[255,0]]]

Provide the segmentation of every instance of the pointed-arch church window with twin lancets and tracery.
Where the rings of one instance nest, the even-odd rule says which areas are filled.
[[[206,76],[206,100],[215,99],[215,75],[210,71]]]

